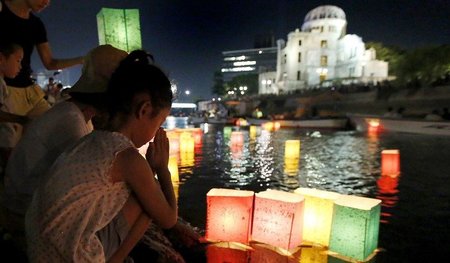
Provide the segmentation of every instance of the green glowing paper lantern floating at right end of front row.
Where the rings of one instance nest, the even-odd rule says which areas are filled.
[[[378,245],[381,201],[341,195],[334,202],[329,250],[345,258],[366,260]]]

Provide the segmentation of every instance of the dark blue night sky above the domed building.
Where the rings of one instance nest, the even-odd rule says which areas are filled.
[[[210,98],[221,52],[253,48],[257,34],[276,39],[301,28],[308,11],[336,5],[347,16],[347,33],[364,42],[415,48],[450,43],[449,0],[53,0],[38,14],[55,57],[85,54],[98,45],[96,14],[102,7],[138,8],[143,48],[154,54],[181,91]],[[33,69],[42,69],[35,55]],[[70,69],[72,85],[81,66]]]

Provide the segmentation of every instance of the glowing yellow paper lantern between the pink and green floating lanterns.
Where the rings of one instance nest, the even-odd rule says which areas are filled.
[[[303,213],[303,239],[328,246],[334,201],[340,196],[335,192],[312,188],[298,188],[294,191],[305,198]]]

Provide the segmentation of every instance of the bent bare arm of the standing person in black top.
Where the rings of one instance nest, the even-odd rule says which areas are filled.
[[[58,59],[54,58],[48,42],[39,44],[36,49],[41,57],[42,64],[48,70],[57,70],[83,64],[83,57]]]

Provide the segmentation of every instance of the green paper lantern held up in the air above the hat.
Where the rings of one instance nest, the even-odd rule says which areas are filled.
[[[142,49],[139,9],[102,8],[97,14],[99,44],[131,52]]]

